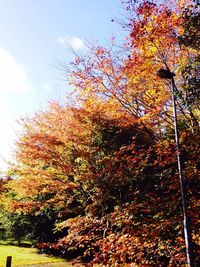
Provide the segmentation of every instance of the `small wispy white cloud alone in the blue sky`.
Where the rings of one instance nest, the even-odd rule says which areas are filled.
[[[75,36],[63,36],[57,39],[57,43],[61,45],[67,45],[74,50],[81,50],[84,48],[84,42],[82,39]]]

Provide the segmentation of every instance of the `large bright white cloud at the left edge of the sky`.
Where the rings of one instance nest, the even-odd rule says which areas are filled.
[[[31,89],[24,69],[8,51],[0,47],[0,93],[26,92]]]

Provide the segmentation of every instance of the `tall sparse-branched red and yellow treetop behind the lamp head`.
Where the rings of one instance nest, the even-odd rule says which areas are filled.
[[[121,105],[145,127],[158,131],[172,125],[170,84],[157,76],[160,68],[176,74],[179,114],[185,123],[197,125],[197,118],[186,104],[182,68],[196,55],[180,46],[184,29],[182,7],[149,1],[125,1],[129,19],[124,27],[129,36],[121,50],[91,46],[90,54],[77,57],[67,74],[80,97],[91,101],[94,95]],[[148,131],[148,129],[147,129]],[[149,133],[152,134],[152,133]]]

